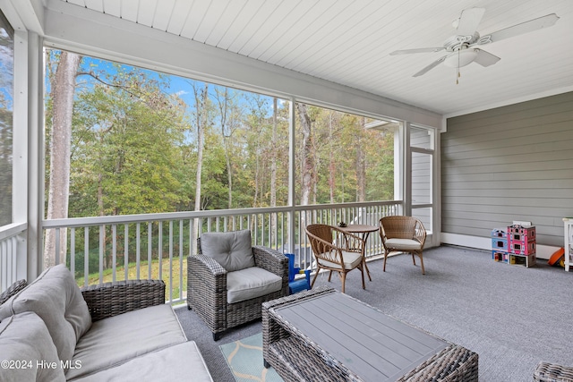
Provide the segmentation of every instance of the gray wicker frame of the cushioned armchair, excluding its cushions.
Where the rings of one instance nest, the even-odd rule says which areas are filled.
[[[203,233],[205,234],[205,233]],[[201,251],[187,259],[187,308],[194,310],[213,333],[213,340],[228,328],[261,318],[261,304],[288,295],[288,259],[282,253],[262,246],[252,246],[254,266],[282,279],[280,290],[249,300],[227,302],[227,269]]]

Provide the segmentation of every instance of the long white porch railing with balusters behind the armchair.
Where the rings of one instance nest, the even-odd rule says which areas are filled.
[[[43,229],[45,235],[50,231],[55,235],[56,264],[65,262],[79,284],[162,275],[167,300],[177,303],[186,297],[186,257],[195,252],[195,226],[199,233],[250,229],[253,244],[295,253],[296,267],[312,268],[304,226],[339,222],[378,225],[382,216],[397,215],[401,206],[401,201],[379,201],[95,216],[46,220]],[[372,234],[366,256],[381,251],[379,235]]]

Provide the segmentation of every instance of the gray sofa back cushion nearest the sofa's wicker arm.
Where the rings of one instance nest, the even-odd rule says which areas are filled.
[[[71,360],[78,339],[91,327],[90,311],[64,266],[47,268],[36,280],[0,306],[0,320],[33,311],[44,320],[60,360]]]

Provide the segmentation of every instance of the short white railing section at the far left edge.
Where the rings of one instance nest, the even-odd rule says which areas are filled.
[[[20,245],[25,233],[25,223],[0,227],[0,292],[26,278],[26,253]]]

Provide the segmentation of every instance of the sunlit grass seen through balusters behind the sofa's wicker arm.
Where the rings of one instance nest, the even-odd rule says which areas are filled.
[[[141,260],[140,262],[140,276],[139,278],[141,279],[147,279],[147,278],[153,278],[153,279],[158,279],[159,278],[159,261],[158,259],[154,259],[151,260],[151,277],[149,277],[149,267],[148,267],[148,261],[145,260]],[[173,258],[173,273],[172,273],[172,277],[173,277],[173,285],[172,285],[172,293],[173,293],[173,298],[177,298],[179,296],[179,276],[181,275],[181,273],[183,272],[183,290],[186,291],[187,290],[187,258],[184,257],[183,259],[183,268],[180,267],[179,265],[179,257],[174,257]],[[130,280],[134,280],[137,277],[137,263],[129,263],[129,265],[127,266],[127,274],[128,274],[128,279]],[[162,259],[162,264],[161,264],[161,279],[165,282],[166,284],[166,298],[169,298],[169,259]],[[125,278],[125,268],[122,265],[121,267],[116,267],[115,268],[115,279],[116,280],[124,280]],[[79,277],[76,278],[76,283],[78,284],[78,286],[82,287],[84,285],[84,277]],[[103,282],[107,283],[107,282],[111,282],[113,281],[113,272],[112,269],[104,269],[103,272]],[[92,284],[99,284],[99,273],[98,272],[94,272],[94,273],[90,273],[90,276],[88,276],[88,284],[92,285]]]

